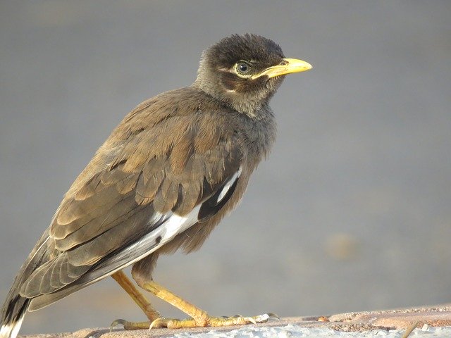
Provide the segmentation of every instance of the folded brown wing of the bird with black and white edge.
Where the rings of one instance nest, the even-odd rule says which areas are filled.
[[[128,115],[112,135],[123,142],[113,144],[110,137],[70,188],[51,223],[49,261],[20,294],[39,298],[77,280],[99,280],[208,219],[230,199],[242,160],[233,132],[200,112],[164,115],[140,128],[147,111]]]

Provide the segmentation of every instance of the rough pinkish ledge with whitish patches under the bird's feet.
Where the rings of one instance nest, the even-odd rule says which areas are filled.
[[[306,337],[304,335],[288,334],[290,330],[284,328],[292,327],[292,332],[300,332],[304,329],[336,332],[368,332],[381,330],[406,330],[416,323],[416,327],[449,327],[451,332],[451,304],[439,306],[424,306],[419,308],[401,308],[386,311],[365,311],[354,313],[340,313],[323,317],[291,317],[280,320],[270,320],[268,323],[258,325],[233,326],[233,327],[198,327],[182,330],[113,330],[109,329],[83,329],[76,332],[61,334],[36,334],[23,336],[27,338],[163,338],[163,337],[272,337],[270,335],[259,335],[258,332],[285,332],[281,337]],[[318,331],[319,330],[319,331]],[[241,333],[239,331],[242,331]],[[230,335],[227,333],[230,332]],[[254,332],[255,335],[245,336],[245,332]],[[278,334],[279,335],[279,334]],[[326,337],[326,336],[321,336]],[[329,336],[327,336],[329,337]],[[332,336],[330,336],[332,337]],[[366,336],[371,337],[371,336]],[[379,337],[379,336],[378,336]]]

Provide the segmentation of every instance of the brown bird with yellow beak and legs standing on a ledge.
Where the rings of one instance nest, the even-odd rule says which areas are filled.
[[[63,196],[20,268],[1,310],[0,338],[15,338],[37,311],[112,276],[147,316],[125,329],[245,325],[270,314],[214,317],[152,279],[157,258],[199,249],[242,199],[276,137],[269,101],[285,75],[309,70],[276,42],[230,35],[201,56],[189,87],[134,108]],[[164,318],[137,286],[186,313]]]

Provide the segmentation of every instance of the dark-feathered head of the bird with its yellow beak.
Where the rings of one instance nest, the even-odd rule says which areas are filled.
[[[309,63],[285,58],[280,46],[259,35],[232,35],[202,54],[194,85],[247,115],[257,115],[284,75],[309,70]]]

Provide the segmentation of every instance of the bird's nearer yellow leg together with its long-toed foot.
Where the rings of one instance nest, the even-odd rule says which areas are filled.
[[[152,327],[168,327],[170,329],[178,329],[180,327],[205,327],[205,326],[230,326],[230,325],[245,325],[250,323],[263,323],[268,320],[272,314],[257,315],[254,317],[243,317],[241,315],[236,315],[229,318],[223,317],[211,317],[206,311],[201,308],[197,308],[192,303],[189,303],[182,299],[180,296],[173,294],[165,287],[157,284],[154,281],[147,281],[140,285],[143,289],[152,292],[159,299],[163,299],[170,303],[175,308],[183,311],[191,318],[185,320],[169,319],[169,318],[158,318],[150,324]]]

